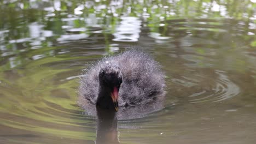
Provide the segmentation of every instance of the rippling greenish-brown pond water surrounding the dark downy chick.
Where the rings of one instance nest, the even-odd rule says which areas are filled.
[[[256,141],[254,0],[3,0],[0,19],[0,143]],[[132,47],[162,65],[164,108],[85,115],[82,70]]]

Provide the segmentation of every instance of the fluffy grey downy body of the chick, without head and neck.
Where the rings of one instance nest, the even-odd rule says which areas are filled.
[[[164,73],[158,62],[147,53],[129,50],[117,56],[106,57],[85,70],[80,79],[79,94],[86,103],[96,104],[99,93],[98,74],[106,65],[117,65],[123,75],[119,90],[119,106],[146,104],[164,97]]]

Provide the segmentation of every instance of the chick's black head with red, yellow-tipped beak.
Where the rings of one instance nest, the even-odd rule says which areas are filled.
[[[123,82],[121,70],[117,65],[106,65],[102,67],[98,74],[100,86],[106,92],[106,97],[110,97],[116,111],[118,111],[118,93]]]

